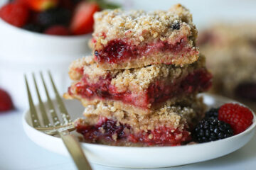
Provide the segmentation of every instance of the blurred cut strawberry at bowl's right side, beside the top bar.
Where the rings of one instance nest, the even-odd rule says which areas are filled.
[[[70,30],[75,35],[91,33],[93,30],[93,14],[100,11],[100,7],[93,2],[82,1],[75,8]]]

